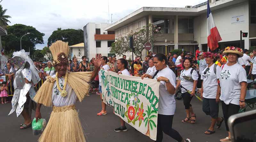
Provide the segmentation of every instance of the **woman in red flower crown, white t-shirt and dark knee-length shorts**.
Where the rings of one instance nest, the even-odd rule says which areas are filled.
[[[203,70],[201,79],[201,99],[203,100],[203,111],[206,115],[210,115],[211,126],[204,132],[204,134],[215,133],[214,126],[217,123],[217,129],[220,128],[224,118],[219,117],[219,102],[220,92],[217,92],[218,82],[220,79],[221,68],[215,64],[217,59],[217,53],[204,52],[205,61],[208,66]]]

